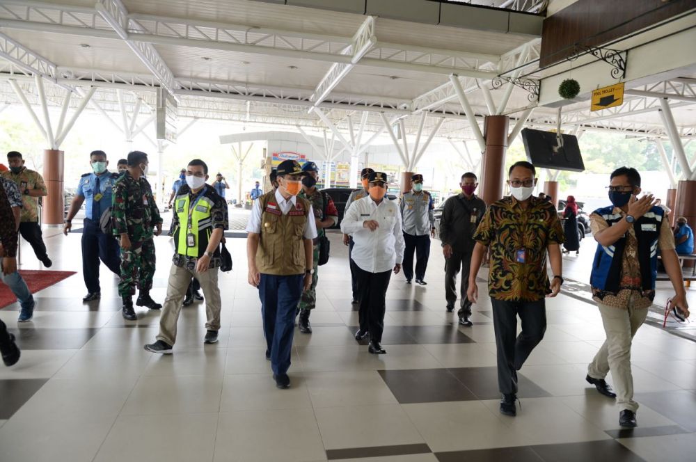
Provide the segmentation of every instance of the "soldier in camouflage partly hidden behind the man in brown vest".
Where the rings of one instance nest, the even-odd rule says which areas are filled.
[[[307,172],[308,175],[302,179],[302,192],[299,193],[299,197],[305,198],[312,203],[315,223],[317,224],[317,239],[314,240],[314,274],[312,276],[312,286],[303,292],[297,307],[300,315],[298,323],[300,332],[310,334],[312,333],[312,326],[309,324],[309,314],[310,310],[313,310],[317,305],[319,238],[326,235],[325,228],[331,228],[331,226],[338,223],[338,210],[336,210],[331,196],[322,193],[322,191],[319,191],[316,187],[317,178],[319,177],[319,168],[317,164],[314,162],[306,162],[302,167],[302,171]]]

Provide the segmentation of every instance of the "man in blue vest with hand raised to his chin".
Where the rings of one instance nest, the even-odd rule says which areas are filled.
[[[674,307],[684,317],[689,311],[664,210],[655,205],[653,196],[636,198],[641,189],[635,168],[617,168],[610,178],[612,205],[590,215],[592,234],[598,243],[590,284],[607,338],[587,367],[586,380],[602,395],[616,398],[621,427],[635,427],[638,403],[633,401],[631,341],[655,297],[658,250],[674,287]],[[604,380],[610,370],[616,392]]]

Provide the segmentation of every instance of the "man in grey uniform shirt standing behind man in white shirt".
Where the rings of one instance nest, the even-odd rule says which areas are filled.
[[[401,198],[404,221],[404,276],[406,284],[413,278],[413,251],[416,251],[416,283],[426,285],[425,269],[430,256],[430,237],[435,236],[435,205],[428,191],[423,191],[423,175],[411,177],[411,191]]]

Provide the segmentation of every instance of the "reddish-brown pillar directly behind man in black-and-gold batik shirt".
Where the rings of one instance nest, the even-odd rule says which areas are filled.
[[[507,116],[486,116],[484,121],[486,151],[482,158],[480,191],[481,198],[487,204],[503,197],[508,126]]]

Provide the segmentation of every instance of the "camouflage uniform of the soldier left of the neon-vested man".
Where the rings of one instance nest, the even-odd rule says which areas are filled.
[[[126,172],[113,185],[111,201],[113,234],[118,237],[127,232],[131,241],[129,250],[121,248],[118,294],[122,297],[132,296],[136,285],[141,292],[149,292],[155,276],[153,228],[162,223],[150,183],[145,177],[135,180]]]

